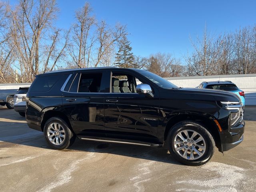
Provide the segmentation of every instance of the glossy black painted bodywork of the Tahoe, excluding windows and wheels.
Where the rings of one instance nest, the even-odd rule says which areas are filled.
[[[68,78],[71,81],[76,74],[94,72],[102,73],[99,93],[61,90]],[[111,74],[115,72],[124,72],[143,80],[151,86],[154,98],[138,93],[111,93]],[[200,121],[214,135],[220,151],[234,147],[232,143],[237,142],[244,132],[243,121],[236,127],[229,126],[230,111],[220,103],[240,101],[238,96],[230,92],[196,88],[165,89],[136,69],[66,70],[40,74],[37,78],[44,76],[58,76],[58,81],[46,92],[33,92],[33,83],[27,93],[26,119],[28,126],[36,130],[42,131],[49,117],[60,116],[79,138],[164,144],[168,131],[177,122]],[[111,102],[113,100],[118,102]],[[219,122],[222,131],[214,120]]]

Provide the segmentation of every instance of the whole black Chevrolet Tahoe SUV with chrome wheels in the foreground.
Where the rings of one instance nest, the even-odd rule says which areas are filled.
[[[26,120],[58,150],[82,140],[166,146],[187,165],[243,140],[240,99],[220,90],[179,88],[146,70],[86,68],[36,76]]]

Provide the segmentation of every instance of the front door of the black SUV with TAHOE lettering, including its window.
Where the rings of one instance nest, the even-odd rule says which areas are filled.
[[[159,106],[156,102],[158,98],[147,98],[143,94],[136,93],[132,88],[136,86],[136,82],[133,82],[135,78],[130,74],[113,72],[110,80],[113,86],[110,89],[111,93],[106,93],[104,97],[107,136],[155,142],[158,128]],[[124,84],[126,86],[122,87]]]

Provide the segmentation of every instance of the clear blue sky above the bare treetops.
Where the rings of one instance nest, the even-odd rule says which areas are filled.
[[[11,0],[15,2],[14,0]],[[148,56],[170,52],[181,58],[192,51],[189,36],[212,35],[256,24],[255,0],[57,0],[57,25],[69,28],[74,10],[89,2],[97,20],[127,25],[133,52]]]

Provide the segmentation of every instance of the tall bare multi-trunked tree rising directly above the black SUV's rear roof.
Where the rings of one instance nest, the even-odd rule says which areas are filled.
[[[58,8],[55,0],[20,0],[9,7],[12,43],[21,71],[21,81],[32,81],[39,72],[40,40],[52,28]]]

